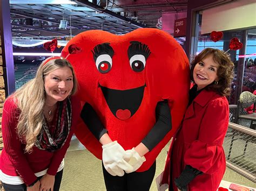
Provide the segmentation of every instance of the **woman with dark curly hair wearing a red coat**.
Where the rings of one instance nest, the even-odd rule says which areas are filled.
[[[169,190],[217,190],[226,160],[223,141],[233,62],[219,49],[206,48],[191,63],[190,100],[173,137],[164,178]]]

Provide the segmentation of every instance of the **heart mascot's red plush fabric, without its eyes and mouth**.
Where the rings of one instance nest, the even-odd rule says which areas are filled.
[[[127,49],[131,41],[146,44],[151,51],[142,72],[131,69]],[[93,48],[110,43],[114,50],[112,68],[108,73],[99,73],[93,59]],[[161,149],[169,142],[183,118],[190,87],[189,64],[183,48],[170,34],[157,29],[137,29],[123,36],[105,31],[86,31],[72,38],[64,47],[62,56],[68,55],[70,44],[83,49],[82,53],[69,55],[79,82],[78,96],[88,102],[99,115],[112,140],[125,150],[136,147],[156,123],[157,102],[169,100],[172,115],[172,130],[145,155],[146,161],[138,172],[146,171],[153,164]],[[146,84],[143,100],[136,113],[125,120],[115,117],[109,109],[99,85],[110,89],[128,90]],[[132,104],[132,103],[131,103]],[[102,159],[102,146],[80,120],[76,136],[97,158]]]

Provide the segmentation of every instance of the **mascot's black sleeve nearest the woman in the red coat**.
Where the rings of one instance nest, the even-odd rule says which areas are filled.
[[[171,129],[172,117],[168,101],[160,101],[156,107],[156,124],[142,140],[142,143],[151,151]]]

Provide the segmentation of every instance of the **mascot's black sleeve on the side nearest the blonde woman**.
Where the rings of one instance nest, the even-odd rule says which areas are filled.
[[[100,119],[96,111],[92,108],[92,106],[89,103],[84,104],[84,107],[80,113],[80,117],[87,125],[87,128],[98,140],[107,132],[102,122],[100,122]]]

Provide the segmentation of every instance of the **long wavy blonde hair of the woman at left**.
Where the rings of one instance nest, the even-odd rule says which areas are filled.
[[[18,137],[25,141],[25,152],[32,152],[38,134],[45,121],[43,107],[45,105],[44,77],[58,68],[69,67],[73,74],[73,89],[76,93],[77,79],[70,62],[65,59],[43,61],[39,66],[36,77],[25,83],[14,93],[14,101],[21,110],[17,124]]]

